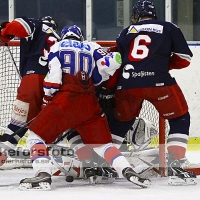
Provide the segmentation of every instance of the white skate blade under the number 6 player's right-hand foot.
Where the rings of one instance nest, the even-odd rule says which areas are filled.
[[[187,186],[187,185],[196,185],[197,182],[194,178],[179,178],[177,176],[170,176],[168,180],[168,185],[171,186]]]

